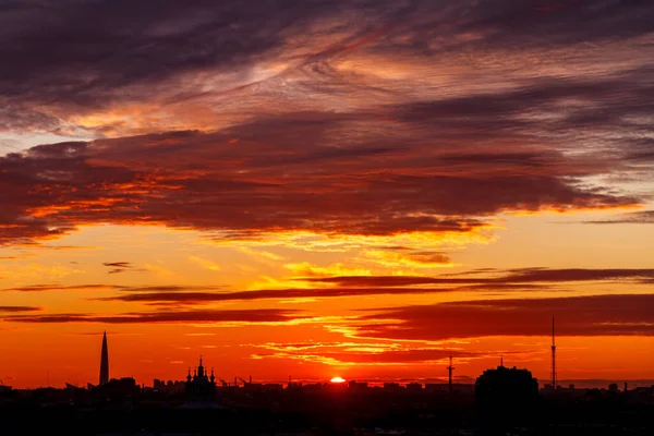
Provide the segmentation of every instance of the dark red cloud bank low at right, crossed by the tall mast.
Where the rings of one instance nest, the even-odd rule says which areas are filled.
[[[654,336],[654,294],[482,300],[382,310],[358,336],[441,340],[484,336]]]

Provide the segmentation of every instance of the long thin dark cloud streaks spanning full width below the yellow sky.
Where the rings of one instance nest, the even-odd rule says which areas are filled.
[[[295,271],[307,272],[302,267]],[[328,271],[339,271],[339,267]],[[646,287],[654,283],[654,269],[483,269],[425,276],[324,276],[327,270],[314,271],[313,277],[292,279],[304,282],[298,288],[253,289],[232,291],[223,286],[154,284],[32,284],[5,288],[0,291],[48,292],[48,291],[116,291],[118,294],[93,296],[96,301],[122,301],[154,305],[209,304],[225,301],[326,299],[363,295],[409,295],[452,292],[566,292],[561,284],[569,283],[629,283]],[[341,270],[342,271],[342,270]],[[356,270],[352,270],[356,272]],[[308,284],[308,286],[306,286]],[[314,286],[315,284],[315,286]],[[644,288],[646,289],[646,288]],[[569,290],[568,290],[569,292]]]

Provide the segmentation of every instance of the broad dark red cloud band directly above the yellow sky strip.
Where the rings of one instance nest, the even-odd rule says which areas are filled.
[[[323,123],[311,121],[306,126],[322,130]],[[470,169],[455,174],[455,167],[437,156],[412,154],[407,144],[404,158],[399,158],[398,148],[374,152],[378,156],[365,159],[371,150],[364,147],[352,160],[329,152],[331,146],[299,148],[306,140],[280,147],[270,140],[265,144],[263,137],[252,136],[271,134],[283,141],[287,133],[249,129],[258,133],[186,132],[66,143],[0,158],[0,185],[8,198],[0,213],[0,243],[59,237],[98,222],[380,235],[470,232],[485,226],[477,217],[505,209],[603,208],[637,202],[546,173],[553,169],[512,175]],[[231,145],[232,136],[243,144]],[[185,158],[179,159],[179,154]],[[412,165],[412,173],[404,173]],[[570,165],[570,171],[579,170]],[[559,166],[566,171],[562,161]],[[308,172],[314,177],[307,179]]]

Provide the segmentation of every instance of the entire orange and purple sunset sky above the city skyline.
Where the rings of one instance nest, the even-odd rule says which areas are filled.
[[[0,380],[654,379],[654,8],[0,0]]]

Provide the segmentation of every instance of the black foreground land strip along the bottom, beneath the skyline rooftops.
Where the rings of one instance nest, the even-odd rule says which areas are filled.
[[[0,435],[654,435],[652,396],[541,395],[525,410],[470,393],[222,392],[210,404],[51,392],[0,399]]]

